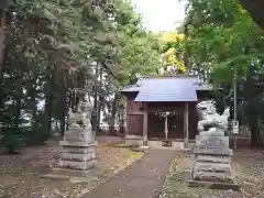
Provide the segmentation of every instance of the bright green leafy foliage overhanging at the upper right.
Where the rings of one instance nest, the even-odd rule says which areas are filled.
[[[233,66],[243,77],[252,58],[263,57],[260,47],[263,30],[237,0],[190,0],[187,18],[186,50],[191,56],[190,64],[200,69],[210,67],[215,82],[231,82]]]

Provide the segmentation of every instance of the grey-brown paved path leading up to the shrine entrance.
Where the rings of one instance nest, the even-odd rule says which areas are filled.
[[[141,160],[81,198],[157,198],[176,151],[148,151]]]

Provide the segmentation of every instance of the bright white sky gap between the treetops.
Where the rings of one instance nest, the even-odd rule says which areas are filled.
[[[185,3],[178,0],[131,0],[143,14],[144,26],[153,32],[174,31],[184,20]]]

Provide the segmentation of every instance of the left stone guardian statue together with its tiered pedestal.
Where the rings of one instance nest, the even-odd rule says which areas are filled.
[[[100,173],[98,168],[90,170],[96,165],[96,134],[90,123],[91,107],[88,101],[82,101],[76,112],[69,112],[69,127],[64,141],[59,142],[62,152],[58,167],[53,168],[53,173],[45,177],[88,182],[98,175],[95,173]]]

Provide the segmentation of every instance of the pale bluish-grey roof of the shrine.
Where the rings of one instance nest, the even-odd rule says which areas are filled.
[[[138,92],[135,101],[197,101],[197,90],[212,90],[212,86],[199,84],[198,76],[153,76],[120,91]]]

